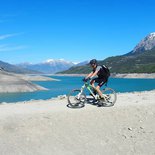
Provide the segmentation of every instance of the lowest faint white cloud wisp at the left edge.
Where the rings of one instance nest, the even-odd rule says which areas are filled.
[[[16,51],[16,50],[22,50],[27,48],[27,46],[24,45],[18,45],[18,46],[11,46],[8,44],[0,45],[0,52],[5,52],[5,51]]]

